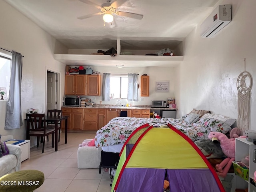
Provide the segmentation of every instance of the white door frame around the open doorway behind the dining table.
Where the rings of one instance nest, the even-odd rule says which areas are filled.
[[[55,73],[56,79],[58,80],[56,83],[56,101],[58,102],[56,105],[56,109],[60,110],[61,102],[62,102],[61,98],[60,98],[60,85],[61,85],[60,74],[61,74],[61,72],[46,66],[46,70],[45,70],[45,103],[44,103],[45,113],[47,113],[47,71]]]

